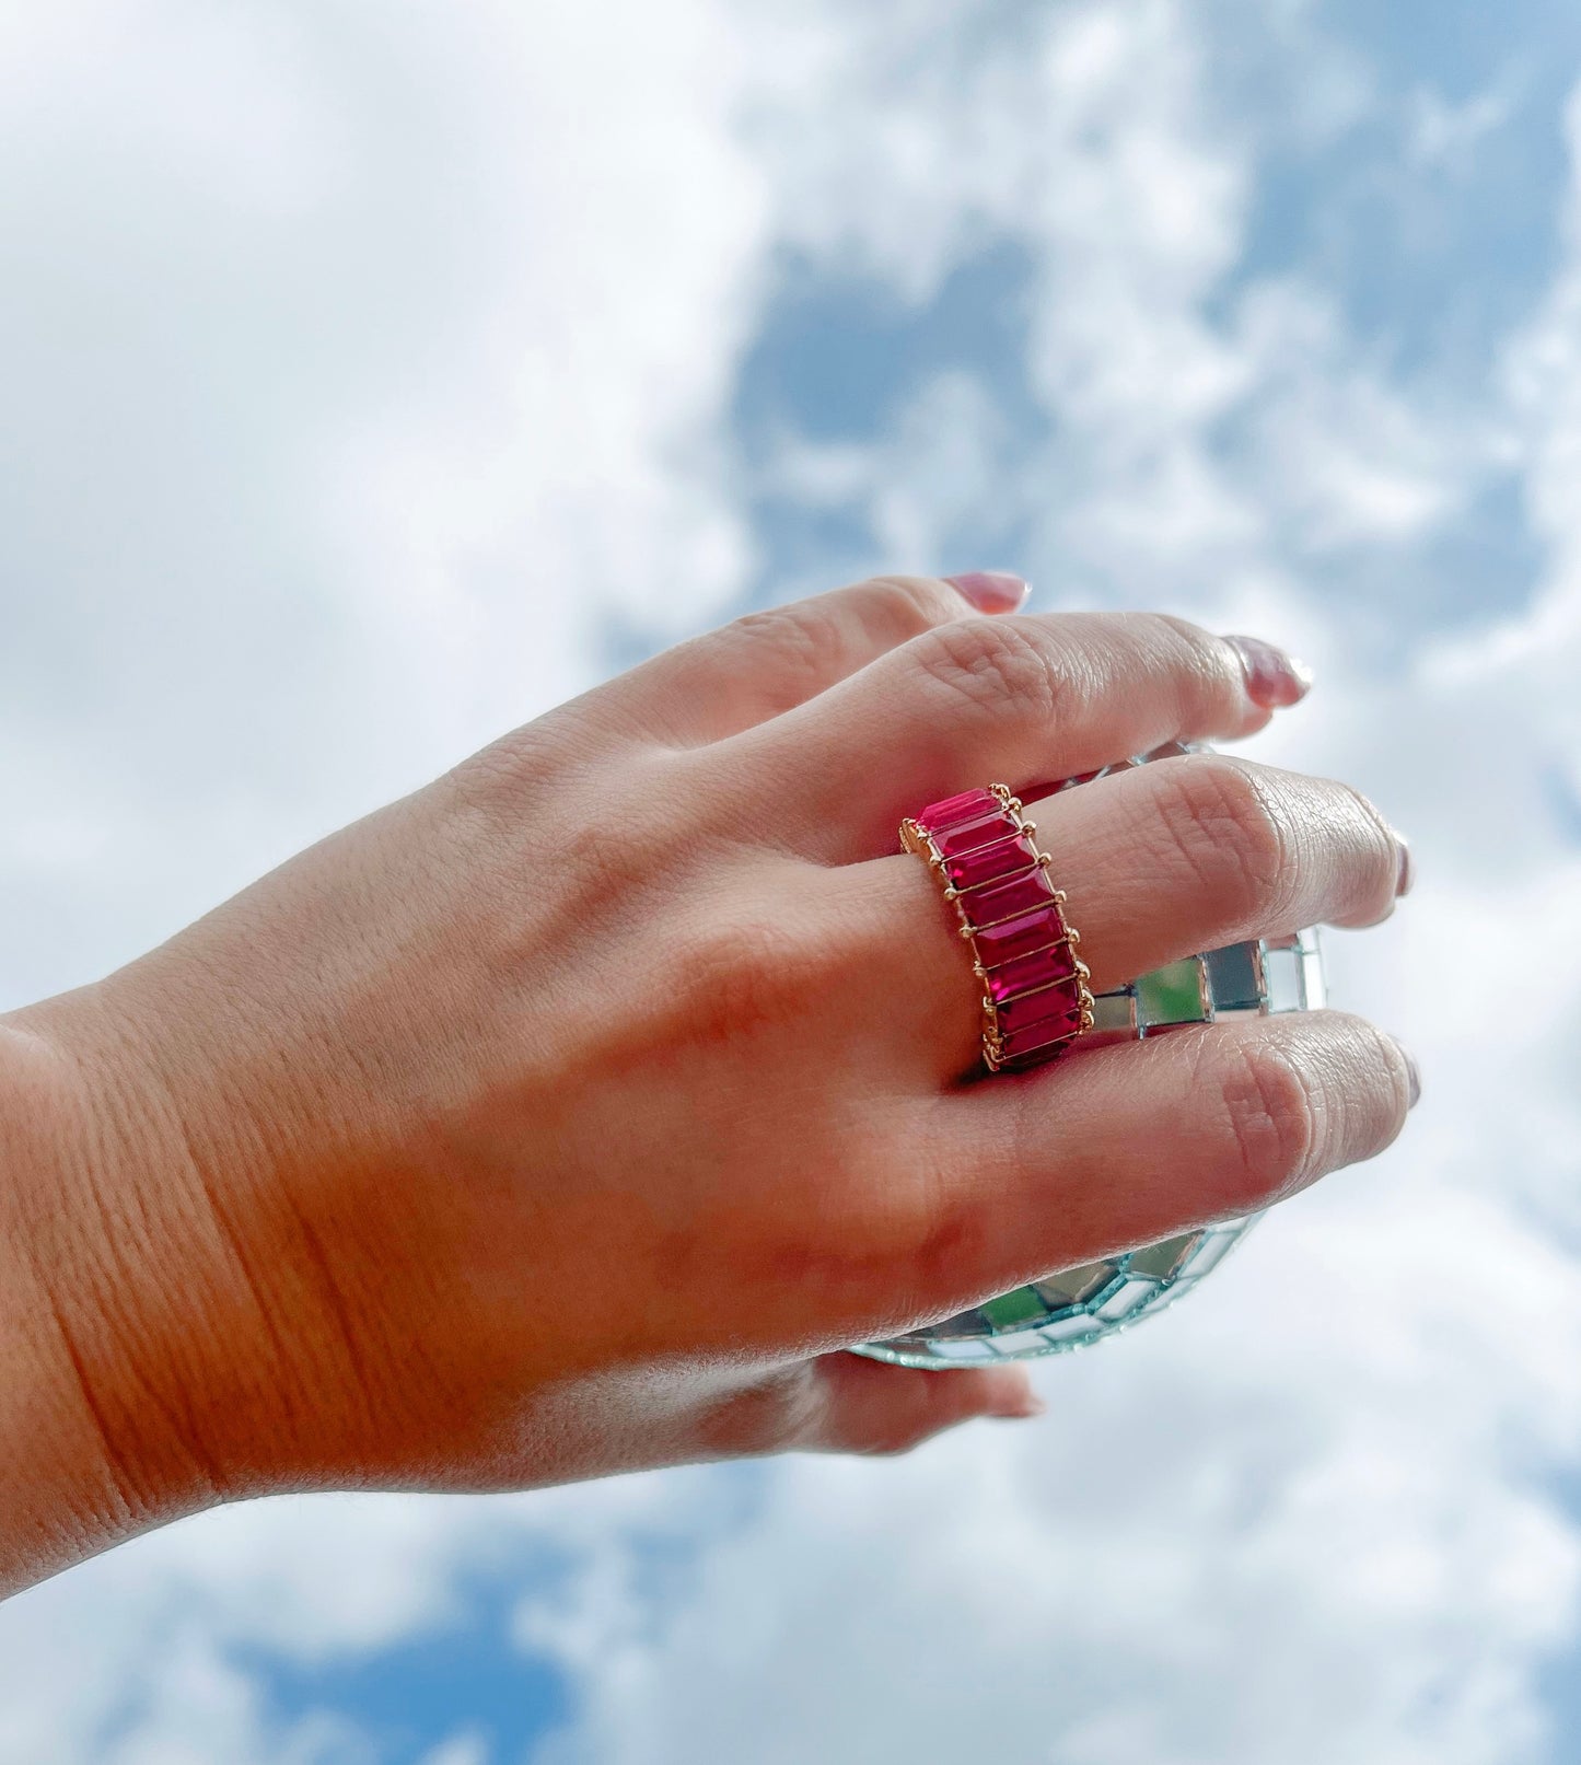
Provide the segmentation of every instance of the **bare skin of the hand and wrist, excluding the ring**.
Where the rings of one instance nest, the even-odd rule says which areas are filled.
[[[1177,620],[858,584],[644,664],[0,1020],[0,1588],[270,1491],[1036,1414],[1015,1366],[843,1350],[1369,1158],[1413,1077],[1323,1011],[985,1084],[896,824],[1248,736],[1299,690],[1270,665]],[[1029,812],[1098,988],[1373,923],[1403,874],[1348,787],[1223,755]]]

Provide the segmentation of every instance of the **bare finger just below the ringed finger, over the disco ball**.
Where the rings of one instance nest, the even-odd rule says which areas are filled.
[[[935,1100],[914,1287],[935,1317],[1055,1269],[1256,1213],[1383,1151],[1410,1057],[1364,1018],[1293,1011],[1098,1048]]]

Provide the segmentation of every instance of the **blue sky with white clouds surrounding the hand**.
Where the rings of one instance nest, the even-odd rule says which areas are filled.
[[[1581,12],[0,0],[0,1008],[665,642],[1000,567],[1304,655],[1385,1156],[1045,1419],[171,1527],[0,1765],[1562,1765]],[[949,1377],[949,1375],[939,1375]]]

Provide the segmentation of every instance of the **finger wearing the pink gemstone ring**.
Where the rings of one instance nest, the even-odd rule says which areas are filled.
[[[1052,856],[1096,992],[1122,987],[1182,957],[1306,925],[1375,925],[1394,911],[1401,842],[1350,785],[1223,754],[1154,761],[1029,803],[1029,845]],[[1030,858],[1002,847],[1006,867]],[[962,874],[963,875],[963,874]],[[831,877],[842,923],[870,925],[879,948],[863,960],[868,995],[889,1033],[949,1077],[978,1059],[983,985],[940,898],[940,879],[898,852]],[[988,969],[1009,988],[1048,943],[1046,916],[1016,916],[1004,886],[960,897]],[[1008,911],[1002,907],[1008,905]],[[1006,962],[1020,962],[1020,969]]]

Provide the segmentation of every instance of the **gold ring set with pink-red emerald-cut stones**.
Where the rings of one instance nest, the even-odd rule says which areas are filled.
[[[962,791],[900,824],[900,844],[923,858],[955,905],[983,981],[983,1063],[990,1073],[1041,1066],[1092,1027],[1092,978],[1048,875],[1038,824],[1009,785]]]

